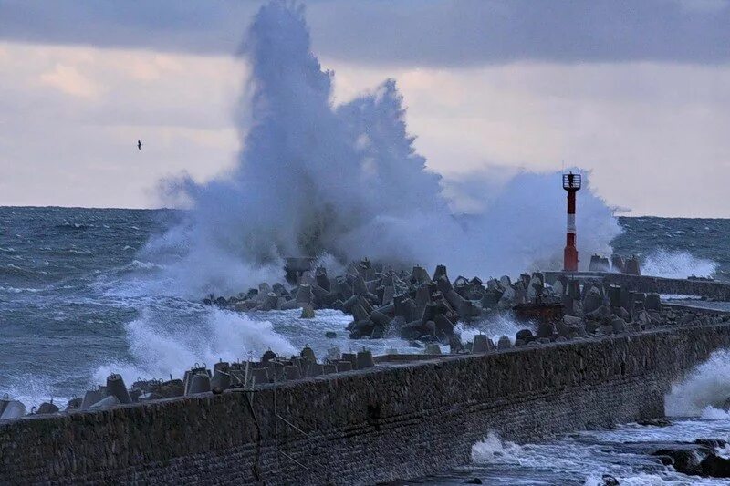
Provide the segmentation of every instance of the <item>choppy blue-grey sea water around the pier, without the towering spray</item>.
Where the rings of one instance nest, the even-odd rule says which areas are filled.
[[[155,278],[162,264],[141,254],[182,218],[172,210],[0,207],[0,396],[28,408],[53,399],[63,408],[112,372],[128,382],[180,377],[194,363],[257,358],[269,348],[409,352],[397,338],[349,340],[349,317],[336,311],[311,320],[296,311],[244,315],[179,295]],[[644,274],[730,282],[730,220],[621,217],[620,225],[614,252],[637,255]],[[479,331],[514,336],[516,326],[492,322]],[[622,444],[730,440],[730,417],[717,407],[728,396],[730,354],[721,352],[667,397],[669,427],[623,424],[527,444],[485,430],[470,465],[412,483],[600,484],[610,474],[620,484],[726,484],[684,476]]]

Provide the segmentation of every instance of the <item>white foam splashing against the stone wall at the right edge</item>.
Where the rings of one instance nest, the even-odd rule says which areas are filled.
[[[665,398],[666,413],[678,417],[729,419],[722,410],[727,398],[730,398],[730,351],[720,350],[673,385]]]

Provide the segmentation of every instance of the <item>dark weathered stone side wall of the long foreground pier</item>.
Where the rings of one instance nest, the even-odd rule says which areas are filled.
[[[730,324],[443,356],[146,404],[0,423],[0,483],[355,484],[469,460],[494,430],[551,433],[663,415],[673,380]]]

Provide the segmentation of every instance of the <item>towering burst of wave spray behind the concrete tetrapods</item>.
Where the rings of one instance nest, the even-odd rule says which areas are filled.
[[[454,215],[441,176],[414,150],[394,80],[333,105],[334,73],[310,51],[302,6],[263,6],[242,52],[253,124],[241,123],[238,164],[205,184],[178,181],[176,191],[193,202],[189,220],[147,248],[177,254],[168,273],[183,292],[240,292],[276,277],[287,255],[443,263],[482,276],[559,261],[565,202],[557,174],[522,173],[493,188],[481,212]],[[609,251],[620,232],[589,190],[579,226],[583,254]]]

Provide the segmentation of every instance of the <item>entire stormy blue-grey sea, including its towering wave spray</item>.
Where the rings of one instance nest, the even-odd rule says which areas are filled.
[[[285,256],[316,255],[328,274],[365,257],[429,272],[446,264],[450,275],[483,280],[560,269],[558,172],[443,179],[416,150],[396,81],[336,104],[335,73],[310,44],[301,7],[275,2],[256,14],[241,49],[250,79],[234,166],[211,181],[161,183],[188,209],[0,208],[0,395],[65,408],[111,373],[165,380],[195,363],[305,345],[318,357],[333,346],[413,352],[397,337],[350,340],[351,316],[339,311],[301,319],[299,310],[203,305],[211,294],[282,282]],[[584,171],[576,218],[584,266],[592,253],[619,253],[636,255],[644,274],[730,281],[730,220],[616,218],[589,178]],[[464,340],[514,338],[518,329],[508,319],[457,327]],[[469,466],[420,482],[595,484],[610,474],[620,484],[719,484],[625,443],[730,440],[728,377],[730,355],[717,353],[677,383],[667,427],[625,424],[520,445],[484,430]]]

